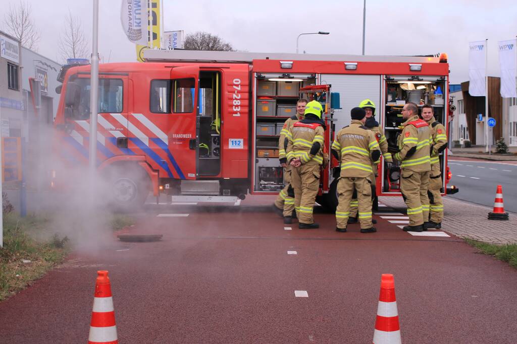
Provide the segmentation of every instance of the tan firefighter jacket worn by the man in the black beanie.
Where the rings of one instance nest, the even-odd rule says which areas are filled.
[[[372,163],[381,156],[375,134],[358,120],[339,130],[332,150],[341,162],[342,177],[370,177]]]

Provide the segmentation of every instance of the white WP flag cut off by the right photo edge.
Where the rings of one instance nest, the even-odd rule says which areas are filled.
[[[514,39],[497,42],[501,67],[501,97],[504,98],[517,97],[517,91],[515,90],[515,62],[517,61],[515,43]]]

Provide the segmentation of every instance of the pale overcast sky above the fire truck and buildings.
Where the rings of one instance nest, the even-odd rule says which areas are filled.
[[[0,21],[16,0],[0,0]],[[57,60],[57,42],[68,10],[92,37],[93,1],[29,0],[41,33],[39,53]],[[237,50],[361,54],[362,0],[183,1],[163,0],[164,29],[207,31]],[[367,55],[447,53],[451,83],[468,80],[468,42],[488,39],[488,73],[499,76],[497,41],[517,35],[515,0],[367,0]],[[90,43],[91,45],[91,43]],[[105,62],[135,61],[120,25],[120,0],[100,0],[100,52]]]

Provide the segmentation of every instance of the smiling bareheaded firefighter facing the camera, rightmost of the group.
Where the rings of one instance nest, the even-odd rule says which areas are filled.
[[[434,119],[433,107],[429,104],[422,106],[422,119],[431,128],[431,174],[429,175],[428,196],[430,202],[430,219],[424,222],[426,228],[439,230],[444,218],[444,204],[442,203],[442,171],[440,171],[439,154],[447,149],[447,135],[442,123]],[[424,219],[425,220],[425,219]]]

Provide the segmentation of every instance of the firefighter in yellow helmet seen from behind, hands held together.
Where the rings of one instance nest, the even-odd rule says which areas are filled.
[[[287,161],[291,169],[291,185],[294,189],[298,228],[319,228],[314,223],[312,208],[320,187],[320,169],[323,164],[322,121],[323,107],[320,102],[310,101],[305,107],[305,118],[294,123],[286,134]]]

